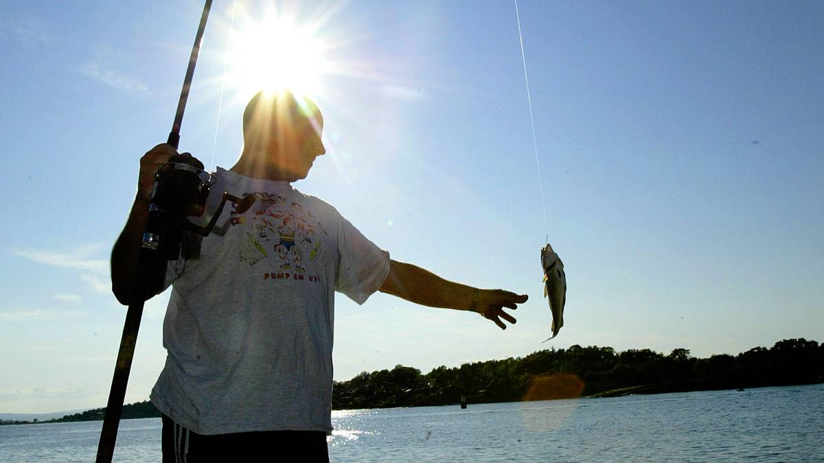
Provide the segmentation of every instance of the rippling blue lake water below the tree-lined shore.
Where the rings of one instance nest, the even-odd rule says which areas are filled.
[[[0,426],[0,461],[93,461],[101,422]],[[331,461],[824,461],[824,385],[335,412]],[[159,461],[160,419],[115,461]]]

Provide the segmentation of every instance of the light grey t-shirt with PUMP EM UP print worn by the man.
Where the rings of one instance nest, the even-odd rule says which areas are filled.
[[[152,403],[200,434],[330,432],[334,292],[363,304],[389,254],[288,182],[216,175],[207,211],[223,191],[256,200],[243,214],[227,204],[199,256],[170,264]]]

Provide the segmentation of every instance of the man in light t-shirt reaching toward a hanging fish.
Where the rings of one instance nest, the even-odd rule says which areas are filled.
[[[229,171],[218,167],[207,211],[223,191],[254,194],[255,203],[224,211],[196,253],[169,265],[168,356],[152,391],[164,414],[164,459],[230,458],[258,446],[328,460],[335,291],[359,304],[380,290],[475,311],[501,329],[503,320],[515,323],[503,307],[527,300],[390,260],[335,208],[294,189],[325,154],[322,127],[307,99],[255,95],[243,115],[241,157]],[[175,154],[161,144],[140,161],[138,195],[111,257],[112,288],[124,304],[135,297],[152,177]]]

